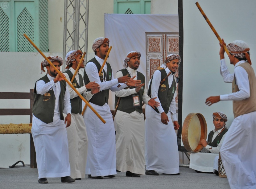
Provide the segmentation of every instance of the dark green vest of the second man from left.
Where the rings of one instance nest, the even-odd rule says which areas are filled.
[[[65,71],[64,73],[67,73],[69,76],[69,79],[71,81],[72,77],[73,77],[73,73],[70,70]],[[72,85],[74,88],[81,88],[84,86],[84,81],[83,81],[83,77],[81,76],[81,74],[78,73],[79,76],[79,85],[76,81],[76,78],[74,78]],[[81,95],[83,96],[84,93],[82,93]],[[70,104],[71,104],[71,113],[82,113],[82,99],[80,97],[75,97],[70,99]]]

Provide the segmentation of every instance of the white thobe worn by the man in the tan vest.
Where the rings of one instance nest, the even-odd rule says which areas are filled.
[[[239,91],[221,95],[223,100],[242,100],[250,96],[248,74],[244,68],[238,66],[244,60],[235,64],[234,74]],[[221,75],[225,82],[231,83],[234,74],[230,74],[221,60]],[[256,188],[256,112],[250,112],[236,117],[229,127],[229,131],[221,147],[221,160],[231,189]]]

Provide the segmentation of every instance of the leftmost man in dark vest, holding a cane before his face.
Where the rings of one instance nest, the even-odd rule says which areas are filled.
[[[62,58],[49,56],[52,65],[44,60],[47,75],[35,83],[32,119],[32,137],[35,144],[38,182],[48,183],[46,177],[61,177],[61,182],[72,183],[68,162],[68,138],[66,127],[71,122],[71,106],[68,87],[56,72],[63,64]],[[63,74],[64,76],[64,74]],[[65,77],[65,76],[64,76]],[[63,116],[63,112],[67,117]],[[67,124],[67,125],[65,125]]]

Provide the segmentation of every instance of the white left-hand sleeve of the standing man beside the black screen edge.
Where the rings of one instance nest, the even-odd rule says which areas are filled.
[[[159,70],[156,70],[153,74],[153,78],[151,81],[151,98],[155,98],[155,101],[159,102],[160,106],[157,107],[159,113],[163,113],[163,107],[161,106],[160,100],[158,98],[158,89],[161,82],[161,72]]]

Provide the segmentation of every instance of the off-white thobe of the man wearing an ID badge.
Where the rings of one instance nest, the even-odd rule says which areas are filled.
[[[129,70],[131,77],[136,76],[137,70],[129,67],[126,69]],[[122,76],[122,72],[118,71],[116,78]],[[135,88],[115,92],[117,97],[127,97],[135,93]],[[149,100],[150,97],[145,88],[142,101],[147,104]],[[122,103],[122,98],[120,103]],[[145,121],[143,113],[137,111],[126,113],[117,110],[114,122],[116,125],[116,169],[121,172],[130,171],[145,175]]]

